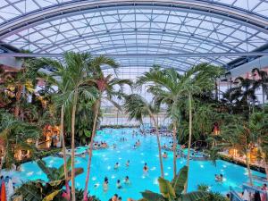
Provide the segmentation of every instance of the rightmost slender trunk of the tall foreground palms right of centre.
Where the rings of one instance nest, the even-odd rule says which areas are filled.
[[[188,94],[188,153],[187,153],[187,167],[189,172],[189,157],[192,144],[192,95]],[[187,172],[187,181],[185,183],[184,192],[187,193],[188,188],[188,172]]]

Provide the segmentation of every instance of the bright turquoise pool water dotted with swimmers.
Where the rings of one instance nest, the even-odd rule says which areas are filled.
[[[98,132],[96,140],[105,140],[110,147],[106,150],[96,150],[93,153],[92,169],[90,176],[89,189],[91,195],[96,195],[102,201],[107,201],[114,193],[119,194],[122,200],[128,197],[134,199],[140,198],[140,192],[150,189],[158,192],[157,178],[160,175],[158,150],[155,136],[132,137],[133,129],[112,130],[105,129]],[[128,139],[121,142],[122,135]],[[137,140],[141,141],[141,146],[133,149],[133,145]],[[162,137],[161,142],[168,144],[171,138]],[[116,149],[113,149],[113,143]],[[165,178],[172,180],[172,152],[167,152],[168,158],[163,159],[163,168]],[[63,164],[63,159],[59,157],[49,156],[44,158],[47,164],[59,167]],[[126,167],[125,163],[130,160],[130,166]],[[83,167],[85,172],[76,177],[76,187],[84,188],[88,155],[86,157],[76,157],[76,167]],[[113,170],[114,163],[119,162],[118,170]],[[144,163],[148,164],[149,172],[145,175],[142,171]],[[181,158],[177,160],[178,170],[186,163]],[[217,183],[214,181],[214,174],[222,173],[224,182]],[[22,172],[18,173],[21,180],[46,180],[46,175],[38,168],[34,162],[22,164]],[[253,174],[258,177],[264,177],[260,172]],[[125,176],[130,177],[130,185],[125,185],[123,179]],[[105,176],[109,179],[109,189],[105,193],[102,185]],[[121,180],[122,188],[115,187],[116,180]],[[209,185],[214,191],[226,193],[232,186],[240,190],[239,186],[243,182],[247,182],[247,169],[239,165],[218,160],[216,166],[209,161],[191,161],[189,171],[189,190],[197,189],[198,184]],[[256,185],[261,185],[255,181]]]

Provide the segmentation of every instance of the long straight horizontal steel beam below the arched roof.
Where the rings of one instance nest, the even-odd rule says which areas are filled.
[[[100,54],[94,54],[99,56]],[[186,54],[105,54],[113,58],[203,58],[218,56],[262,56],[268,55],[268,52],[239,52],[239,53],[186,53]],[[63,57],[63,54],[24,54],[24,53],[0,53],[0,57]]]

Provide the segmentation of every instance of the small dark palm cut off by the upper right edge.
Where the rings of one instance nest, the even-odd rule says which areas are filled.
[[[258,75],[259,79],[255,80],[256,88],[261,87],[263,90],[263,105],[265,104],[265,95],[266,99],[268,99],[268,73],[267,71],[261,71],[258,68],[252,70],[253,76]]]

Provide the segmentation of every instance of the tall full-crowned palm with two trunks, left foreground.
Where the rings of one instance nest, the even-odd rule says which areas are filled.
[[[61,136],[63,140],[63,121],[64,110],[71,110],[71,200],[75,201],[75,169],[74,169],[74,150],[75,150],[75,118],[79,96],[82,94],[88,100],[95,100],[96,90],[87,83],[91,80],[90,64],[94,61],[90,54],[66,53],[63,63],[45,60],[47,65],[55,68],[55,72],[49,77],[49,81],[59,88],[60,96],[57,96],[61,103]],[[63,155],[65,148],[63,148]],[[66,157],[66,156],[65,156]],[[66,164],[66,159],[64,161]],[[66,169],[66,165],[64,166]],[[66,179],[66,171],[65,171]]]

